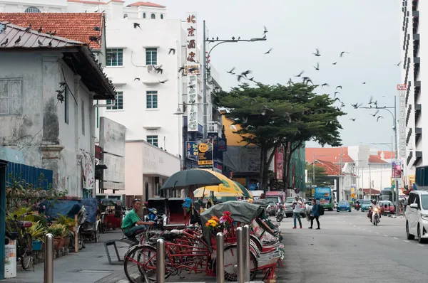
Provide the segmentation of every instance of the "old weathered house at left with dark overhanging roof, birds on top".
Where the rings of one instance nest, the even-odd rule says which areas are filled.
[[[25,29],[0,28],[0,146],[52,170],[58,191],[93,196],[93,101],[112,99],[114,87],[84,43]]]

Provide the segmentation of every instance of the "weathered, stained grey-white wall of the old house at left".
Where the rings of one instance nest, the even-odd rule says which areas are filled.
[[[91,94],[60,53],[0,53],[0,62],[0,82],[21,80],[22,101],[21,114],[0,115],[0,145],[21,149],[27,165],[54,171],[55,188],[82,196],[81,150],[93,156]],[[69,88],[64,102],[59,82]]]

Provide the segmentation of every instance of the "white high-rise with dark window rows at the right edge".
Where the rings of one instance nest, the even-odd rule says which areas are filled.
[[[402,83],[407,84],[407,92],[404,93],[406,114],[401,140],[406,147],[403,156],[404,173],[409,178],[413,176],[413,180],[416,166],[427,165],[428,161],[428,138],[424,139],[428,128],[422,119],[422,107],[428,105],[428,97],[421,92],[424,69],[420,68],[424,53],[420,48],[420,37],[423,38],[423,32],[426,31],[420,13],[424,11],[428,11],[427,1],[402,1]]]

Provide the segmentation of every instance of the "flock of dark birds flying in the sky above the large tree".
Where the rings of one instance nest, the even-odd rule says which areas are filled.
[[[263,31],[263,37],[266,38],[266,34],[267,34],[267,28],[264,27],[265,30]],[[269,50],[267,50],[264,54],[270,54],[272,52],[273,48],[270,48]],[[339,58],[344,58],[345,54],[350,54],[350,52],[348,51],[342,51],[339,54]],[[320,58],[321,57],[321,53],[320,50],[318,48],[315,49],[315,52],[312,53],[312,55],[315,56],[315,58]],[[337,65],[338,61],[332,62],[332,65]],[[396,66],[399,66],[402,62],[400,61],[397,64],[394,64]],[[316,65],[312,66],[314,68],[315,71],[320,71],[320,63],[317,62]],[[252,73],[251,70],[245,70],[242,73],[235,73],[235,67],[231,68],[230,70],[228,70],[226,73],[230,74],[230,75],[236,75],[238,82],[240,82],[243,78],[252,82],[256,82],[253,78],[249,78],[249,74]],[[312,82],[311,78],[308,76],[303,76],[303,74],[305,73],[305,70],[302,70],[300,73],[298,73],[297,75],[295,75],[295,78],[301,78],[302,82],[305,84],[311,83],[312,85],[315,85],[314,82]],[[292,85],[295,82],[293,82],[293,80],[290,78],[290,80],[288,80],[287,85]],[[361,82],[362,85],[367,85],[367,82]],[[317,85],[318,86],[318,85]],[[322,84],[320,84],[321,87],[330,87],[330,85],[327,82],[324,82]],[[334,100],[335,102],[340,102],[340,107],[336,107],[337,110],[342,110],[343,107],[345,107],[345,103],[342,102],[342,100],[340,100],[339,97],[337,97],[337,95],[340,95],[340,92],[338,90],[342,90],[342,85],[337,85],[335,87],[335,92],[333,93],[334,95]],[[350,104],[353,109],[358,109],[360,107],[362,107],[362,103],[355,103],[355,104]],[[367,107],[365,108],[369,108],[369,109],[373,109],[376,110],[376,112],[374,112],[374,114],[370,114],[370,116],[375,117],[376,121],[379,122],[379,119],[384,119],[384,117],[382,117],[381,115],[378,115],[379,110],[385,107],[378,107],[377,105],[377,100],[373,100],[373,97],[370,97],[370,101],[368,102]],[[353,122],[356,121],[356,118],[350,118],[350,120],[352,120]]]

